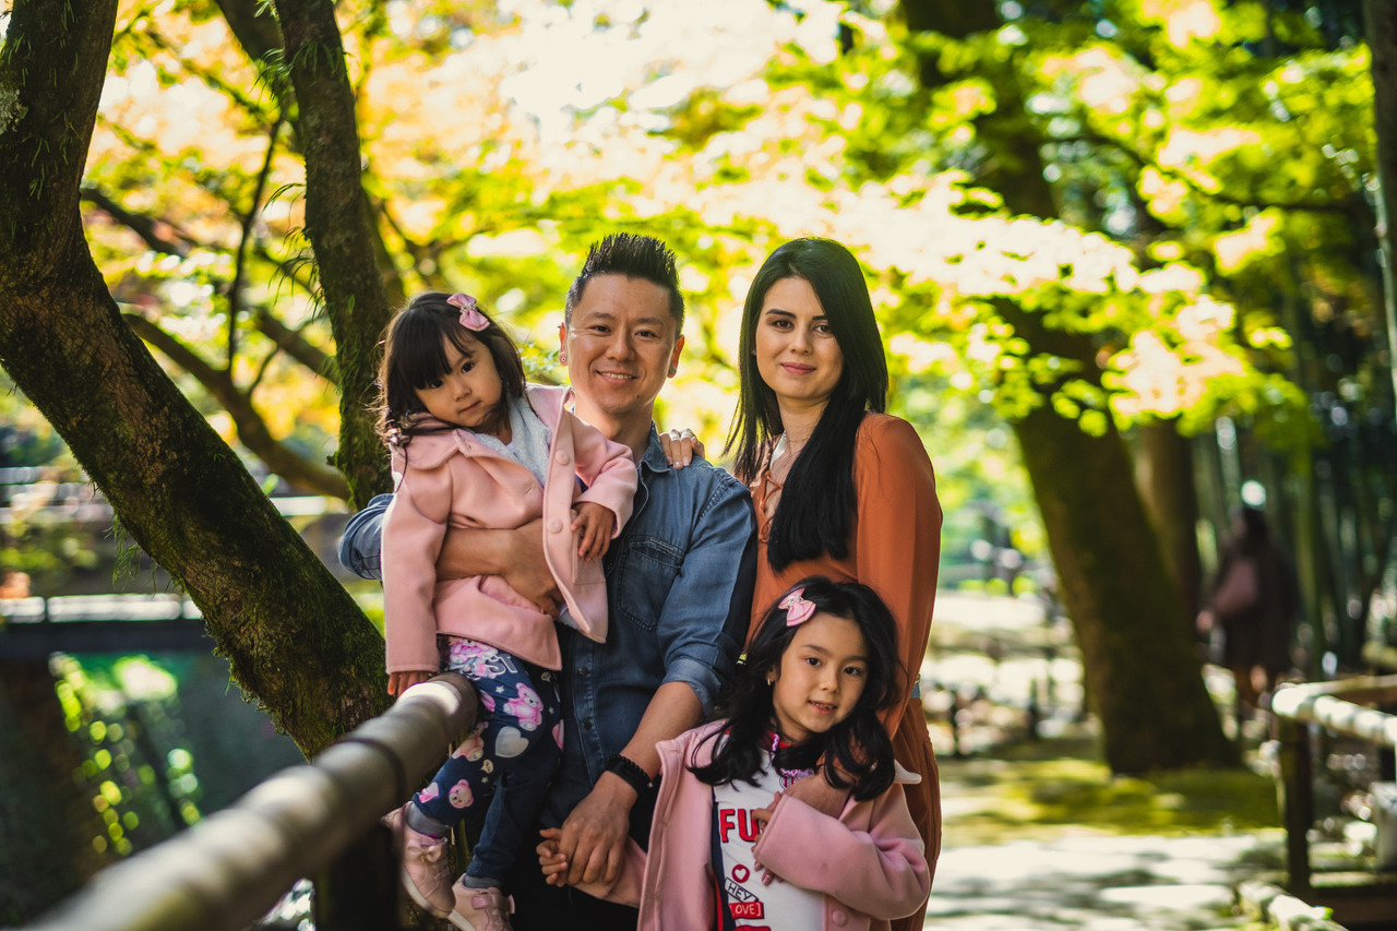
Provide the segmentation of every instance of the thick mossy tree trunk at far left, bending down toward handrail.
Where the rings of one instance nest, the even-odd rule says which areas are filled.
[[[15,0],[0,50],[0,365],[313,755],[387,705],[383,640],[122,319],[78,182],[115,0]],[[349,366],[341,362],[344,369]]]

